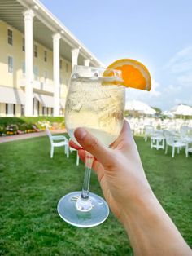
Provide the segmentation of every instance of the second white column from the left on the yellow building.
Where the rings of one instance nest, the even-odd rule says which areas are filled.
[[[54,51],[54,63],[53,63],[53,73],[54,73],[54,117],[59,117],[60,99],[59,99],[59,42],[61,35],[55,33],[53,35],[53,51]]]

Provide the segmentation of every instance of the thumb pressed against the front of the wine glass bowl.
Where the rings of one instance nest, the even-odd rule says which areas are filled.
[[[77,128],[74,135],[82,148],[91,153],[103,166],[111,166],[110,160],[113,158],[111,148],[104,146],[84,128]]]

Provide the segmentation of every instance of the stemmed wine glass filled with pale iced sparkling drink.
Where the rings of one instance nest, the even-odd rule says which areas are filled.
[[[103,73],[105,72],[105,75]],[[65,126],[68,135],[77,143],[74,130],[84,127],[107,147],[113,143],[124,121],[124,86],[121,72],[75,66],[69,83],[65,105]],[[77,143],[78,144],[78,143]],[[107,202],[89,192],[89,179],[94,157],[85,152],[85,176],[81,191],[63,196],[58,212],[67,223],[76,227],[94,227],[103,223],[109,214]]]

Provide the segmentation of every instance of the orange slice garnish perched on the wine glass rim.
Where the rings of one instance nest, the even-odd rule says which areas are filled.
[[[113,76],[111,69],[121,71],[124,81],[123,86],[140,90],[151,90],[151,75],[141,62],[132,59],[116,60],[107,67],[103,77]]]

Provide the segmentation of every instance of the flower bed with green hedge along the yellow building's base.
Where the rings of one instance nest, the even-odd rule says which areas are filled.
[[[22,135],[25,133],[64,128],[63,117],[0,117],[0,136]]]

